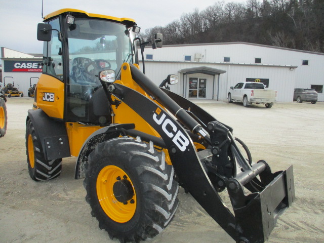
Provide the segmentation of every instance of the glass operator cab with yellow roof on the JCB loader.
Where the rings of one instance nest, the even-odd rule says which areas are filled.
[[[45,41],[43,74],[64,83],[63,119],[109,124],[109,102],[98,74],[112,69],[119,79],[121,64],[138,63],[136,23],[73,9],[54,12],[45,23],[37,31],[38,40]]]

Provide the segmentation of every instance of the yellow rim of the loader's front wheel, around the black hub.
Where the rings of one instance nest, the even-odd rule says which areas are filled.
[[[113,193],[113,185],[120,178],[127,178],[134,191],[133,197],[127,201],[127,204],[120,203]],[[136,193],[134,185],[125,171],[116,166],[106,166],[100,171],[96,185],[101,208],[110,219],[118,223],[126,223],[133,218],[136,211]]]

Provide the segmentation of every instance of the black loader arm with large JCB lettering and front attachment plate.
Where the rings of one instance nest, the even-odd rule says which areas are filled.
[[[183,101],[185,109],[188,105],[194,107],[196,114],[190,115],[172,99],[176,96],[161,91],[136,66],[127,64],[124,72],[131,72],[134,81],[160,105],[121,84],[114,84],[118,92],[111,95],[127,104],[161,136],[185,189],[236,242],[264,242],[277,216],[295,197],[292,167],[272,174],[263,160],[250,165],[237,148],[231,128]],[[123,80],[123,74],[121,77]],[[204,138],[207,149],[196,152],[186,129]],[[219,196],[225,188],[234,215]]]

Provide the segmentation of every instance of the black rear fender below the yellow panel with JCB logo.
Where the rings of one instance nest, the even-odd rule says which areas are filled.
[[[37,138],[41,141],[46,160],[71,156],[65,123],[48,116],[42,109],[28,110],[27,121],[31,120]]]

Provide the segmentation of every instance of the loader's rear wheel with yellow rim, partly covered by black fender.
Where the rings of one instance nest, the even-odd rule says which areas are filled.
[[[35,133],[31,120],[26,126],[26,154],[28,172],[34,181],[47,181],[58,177],[62,170],[62,159],[46,160],[41,141]]]

